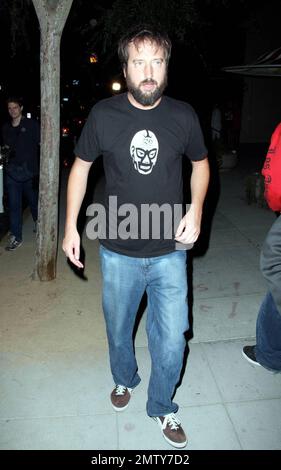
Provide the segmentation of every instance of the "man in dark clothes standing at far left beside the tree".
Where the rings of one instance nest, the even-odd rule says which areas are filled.
[[[11,120],[2,128],[3,145],[9,149],[6,166],[6,187],[9,203],[10,237],[6,247],[13,251],[22,244],[22,200],[25,196],[36,224],[38,191],[34,179],[38,175],[40,130],[37,121],[22,115],[18,98],[7,100]]]

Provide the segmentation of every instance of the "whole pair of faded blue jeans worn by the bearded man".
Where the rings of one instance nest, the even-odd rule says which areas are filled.
[[[188,330],[186,252],[133,258],[100,247],[103,310],[110,366],[116,384],[134,388],[140,382],[133,344],[138,307],[147,292],[146,332],[151,356],[147,413],[174,413]]]

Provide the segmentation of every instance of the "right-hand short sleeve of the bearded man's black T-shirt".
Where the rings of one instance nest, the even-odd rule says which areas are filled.
[[[187,126],[189,133],[185,147],[185,155],[192,161],[204,160],[207,157],[207,149],[199,123],[199,119],[193,108],[190,107],[190,123]]]

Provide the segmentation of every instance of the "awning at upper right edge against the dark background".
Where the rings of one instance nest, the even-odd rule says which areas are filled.
[[[222,70],[258,77],[281,77],[281,47],[261,55],[252,64],[224,67]]]

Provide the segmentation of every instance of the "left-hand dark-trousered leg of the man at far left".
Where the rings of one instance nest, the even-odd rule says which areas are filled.
[[[10,232],[17,241],[22,240],[22,185],[11,178],[6,177],[8,201],[9,201],[9,225]]]

